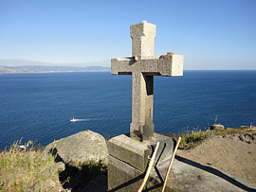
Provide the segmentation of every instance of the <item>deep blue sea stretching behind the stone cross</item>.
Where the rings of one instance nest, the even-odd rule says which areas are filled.
[[[214,121],[256,124],[256,71],[185,71],[155,77],[155,131],[205,130]],[[0,75],[0,148],[23,138],[47,145],[79,131],[129,132],[131,76],[104,73]],[[72,123],[70,117],[83,119]]]

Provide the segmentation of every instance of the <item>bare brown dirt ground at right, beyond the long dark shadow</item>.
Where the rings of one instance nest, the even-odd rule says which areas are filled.
[[[212,136],[196,148],[176,154],[256,183],[256,144]]]

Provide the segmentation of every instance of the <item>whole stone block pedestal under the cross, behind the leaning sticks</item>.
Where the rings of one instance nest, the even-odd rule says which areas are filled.
[[[150,157],[152,156],[156,143],[159,148],[155,157],[155,165],[152,169],[146,191],[159,191],[165,177],[165,169],[171,161],[174,141],[172,138],[154,133],[152,139],[139,142],[124,134],[114,137],[108,141],[109,163],[108,163],[108,189],[109,191],[137,191],[143,181]],[[155,174],[156,173],[156,174]],[[165,191],[171,190],[167,186]]]

